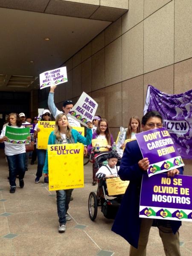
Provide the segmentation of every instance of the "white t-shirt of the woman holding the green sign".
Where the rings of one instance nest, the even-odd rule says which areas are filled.
[[[21,125],[21,127],[11,125],[11,127],[19,129],[19,128],[23,128],[23,125]],[[0,138],[5,136],[5,132],[6,132],[6,126],[3,127]],[[4,143],[5,143],[5,154],[7,156],[13,156],[15,154],[21,154],[26,152],[25,144],[13,144],[13,143],[8,143],[6,141]]]

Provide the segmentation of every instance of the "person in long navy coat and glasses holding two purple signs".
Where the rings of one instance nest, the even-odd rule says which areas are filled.
[[[143,131],[161,128],[162,121],[159,112],[149,111],[142,119]],[[148,158],[142,157],[137,140],[127,143],[118,174],[122,180],[130,180],[130,183],[112,230],[131,244],[130,256],[146,255],[148,235],[154,221],[151,218],[139,218],[141,181],[148,167]],[[168,177],[174,177],[177,174],[183,174],[182,167],[167,172]],[[181,222],[158,220],[156,223],[166,256],[180,256],[178,229]]]

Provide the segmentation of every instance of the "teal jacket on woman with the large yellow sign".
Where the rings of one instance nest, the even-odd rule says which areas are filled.
[[[73,136],[73,139],[75,140],[75,143],[79,142],[79,143],[82,143],[84,145],[91,144],[91,139],[92,139],[92,130],[91,129],[87,129],[87,137],[83,137],[75,129],[71,130],[71,134]],[[54,145],[55,144],[55,139],[56,139],[56,136],[54,134],[54,131],[52,131],[51,134],[49,135],[48,145]],[[48,173],[48,153],[47,152],[46,152],[45,165],[44,165],[44,168],[43,168],[43,172]]]

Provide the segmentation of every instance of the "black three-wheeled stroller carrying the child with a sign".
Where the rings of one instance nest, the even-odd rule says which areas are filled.
[[[98,169],[108,159],[109,151],[95,152],[93,151],[90,159],[95,162]],[[117,166],[120,165],[121,157],[119,156]],[[120,206],[122,195],[116,198],[109,199],[107,192],[106,179],[98,180],[97,192],[90,192],[88,199],[88,211],[92,221],[96,219],[98,207],[101,206],[101,211],[105,218],[114,219]]]

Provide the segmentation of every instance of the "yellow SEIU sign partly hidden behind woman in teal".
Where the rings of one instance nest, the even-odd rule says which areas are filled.
[[[38,149],[47,149],[49,134],[55,129],[55,121],[38,121]]]

